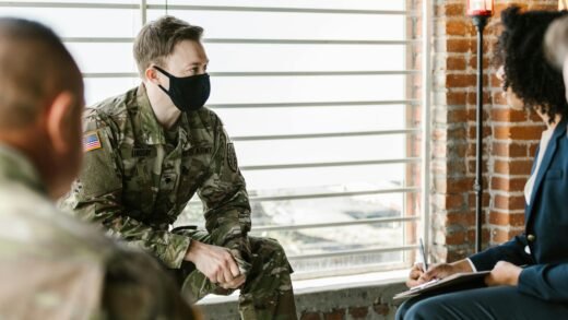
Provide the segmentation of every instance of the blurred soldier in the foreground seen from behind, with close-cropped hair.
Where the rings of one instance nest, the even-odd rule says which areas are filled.
[[[57,35],[0,19],[0,319],[193,319],[157,261],[50,200],[79,173],[84,104]]]

